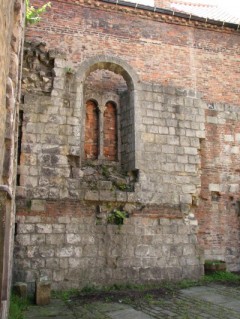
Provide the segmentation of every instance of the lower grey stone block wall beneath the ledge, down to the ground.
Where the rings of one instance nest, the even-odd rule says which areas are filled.
[[[96,206],[32,200],[19,207],[15,278],[54,289],[198,278],[196,226],[133,212],[124,225],[100,223]],[[107,208],[102,205],[102,213]],[[108,208],[109,209],[109,208]]]

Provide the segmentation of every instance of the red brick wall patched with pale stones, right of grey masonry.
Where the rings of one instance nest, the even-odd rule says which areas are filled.
[[[209,105],[201,144],[201,204],[196,217],[206,258],[239,269],[239,107]]]

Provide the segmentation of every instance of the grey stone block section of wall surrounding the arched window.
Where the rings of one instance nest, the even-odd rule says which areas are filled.
[[[45,52],[41,63],[36,62],[39,46]],[[52,53],[42,44],[31,47],[37,74],[42,74]],[[136,170],[125,172],[116,162],[89,163],[81,157],[78,133],[84,128],[81,109],[86,112],[86,106],[79,110],[74,98],[67,107],[64,102],[67,62],[55,52],[51,74],[56,76],[49,95],[38,90],[41,80],[33,77],[30,52],[28,45],[15,280],[26,280],[33,287],[35,280],[47,275],[60,289],[198,277],[202,259],[192,202],[199,193],[198,148],[205,134],[205,103],[191,91],[133,83],[138,101],[131,137],[136,139]],[[80,80],[74,81],[77,87]],[[189,117],[189,107],[194,116]],[[114,211],[128,216],[120,228],[110,223]]]

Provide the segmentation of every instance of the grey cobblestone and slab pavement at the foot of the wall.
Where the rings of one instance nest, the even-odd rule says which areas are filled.
[[[146,301],[148,300],[148,302]],[[138,304],[53,299],[44,307],[31,306],[26,319],[240,319],[240,287],[210,285],[183,289],[174,297],[146,298]]]

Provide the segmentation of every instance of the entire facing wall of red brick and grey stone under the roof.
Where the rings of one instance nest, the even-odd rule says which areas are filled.
[[[60,289],[197,278],[211,257],[238,269],[238,37],[98,1],[52,2],[26,37],[16,280],[48,276]],[[84,154],[89,99],[100,140],[107,101],[119,106],[118,161]]]

